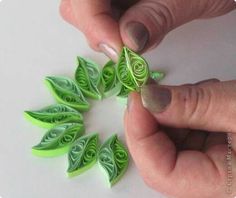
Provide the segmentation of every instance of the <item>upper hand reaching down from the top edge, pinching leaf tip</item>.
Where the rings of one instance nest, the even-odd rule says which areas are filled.
[[[93,49],[117,60],[123,45],[143,52],[184,23],[235,8],[234,0],[62,0],[60,12]]]

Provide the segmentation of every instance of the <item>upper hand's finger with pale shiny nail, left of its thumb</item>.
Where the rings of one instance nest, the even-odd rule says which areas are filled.
[[[67,22],[84,33],[92,49],[117,61],[123,43],[109,0],[62,0],[60,13]]]

